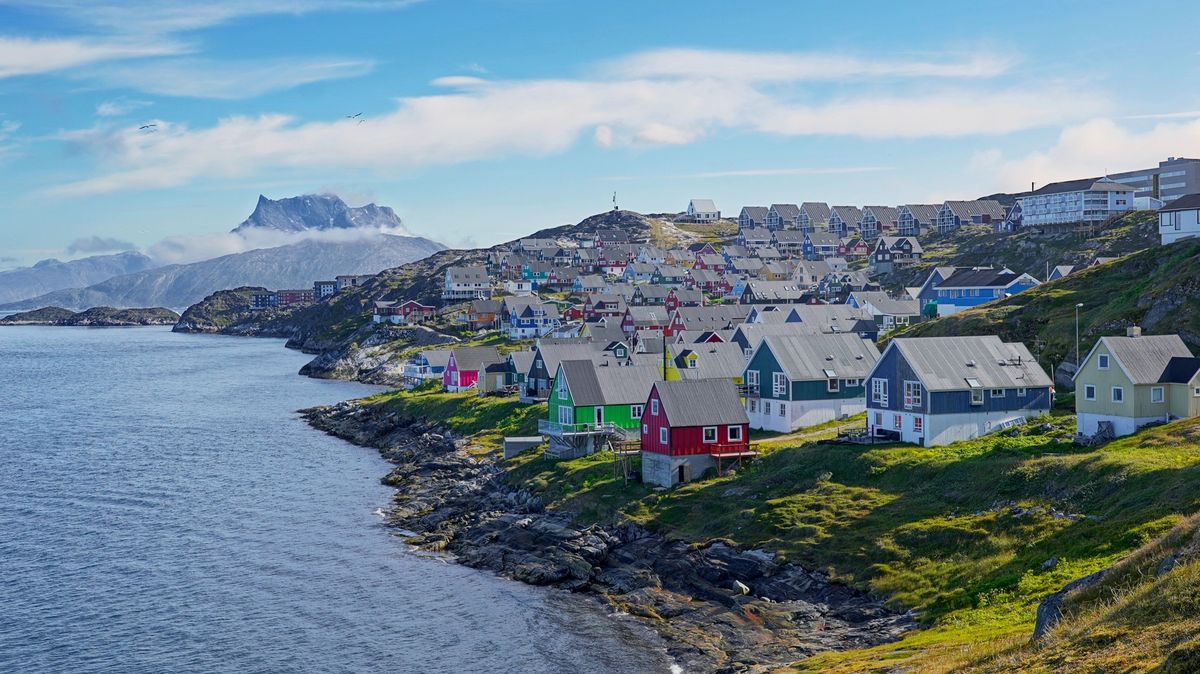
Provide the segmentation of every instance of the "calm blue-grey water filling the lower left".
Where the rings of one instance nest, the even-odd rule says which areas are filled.
[[[592,603],[413,554],[367,387],[277,341],[0,329],[0,672],[665,672]]]

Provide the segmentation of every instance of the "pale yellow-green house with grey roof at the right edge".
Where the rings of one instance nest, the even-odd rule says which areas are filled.
[[[1147,423],[1200,416],[1200,359],[1178,335],[1100,337],[1075,374],[1080,435],[1129,435]]]

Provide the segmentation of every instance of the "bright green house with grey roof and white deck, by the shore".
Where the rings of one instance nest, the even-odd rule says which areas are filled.
[[[562,361],[551,385],[547,419],[539,423],[539,431],[550,437],[547,453],[574,458],[614,438],[637,437],[646,399],[660,378],[653,366]]]

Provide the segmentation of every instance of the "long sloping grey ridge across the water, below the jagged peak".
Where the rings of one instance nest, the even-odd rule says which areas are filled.
[[[347,273],[377,273],[443,248],[444,246],[428,239],[364,231],[361,237],[350,241],[305,240],[288,246],[127,273],[86,288],[55,290],[0,305],[0,311],[43,306],[72,309],[95,306],[187,307],[222,288],[311,288],[313,281]]]

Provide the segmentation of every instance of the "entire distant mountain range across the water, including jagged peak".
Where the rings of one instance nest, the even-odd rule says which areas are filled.
[[[164,266],[156,266],[140,253],[97,255],[72,263],[47,260],[0,272],[0,311],[44,306],[184,308],[226,288],[308,288],[313,281],[377,273],[445,248],[428,239],[397,235],[404,233],[403,223],[386,206],[350,207],[332,194],[280,200],[259,197],[254,212],[233,231],[246,234],[257,229],[298,236],[306,231],[342,233]]]

